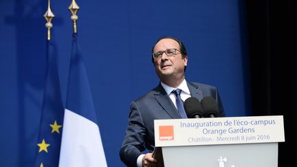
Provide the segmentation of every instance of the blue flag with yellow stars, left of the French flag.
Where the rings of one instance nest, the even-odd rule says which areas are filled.
[[[58,55],[52,41],[47,41],[46,56],[47,69],[34,164],[36,167],[58,166],[64,117],[63,98],[58,75]]]

